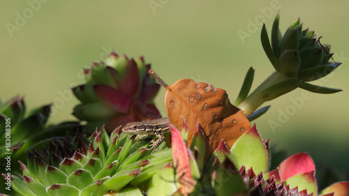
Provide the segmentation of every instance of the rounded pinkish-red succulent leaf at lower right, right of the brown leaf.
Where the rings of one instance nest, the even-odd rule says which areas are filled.
[[[283,160],[279,166],[279,174],[282,180],[286,180],[297,174],[315,171],[315,164],[308,153],[296,153]]]

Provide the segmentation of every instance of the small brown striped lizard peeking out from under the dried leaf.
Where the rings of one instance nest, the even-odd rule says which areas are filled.
[[[151,140],[151,153],[155,151],[155,149],[165,141],[165,133],[170,132],[170,127],[168,127],[168,123],[170,120],[168,118],[163,119],[155,119],[152,121],[139,121],[139,122],[131,122],[127,123],[124,128],[122,128],[122,132],[131,134],[131,135],[156,135],[158,140]]]

